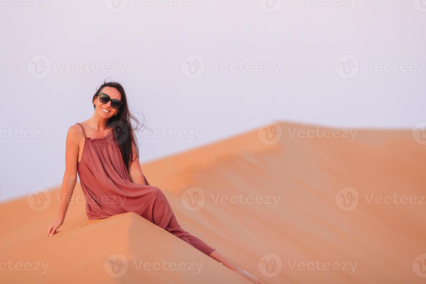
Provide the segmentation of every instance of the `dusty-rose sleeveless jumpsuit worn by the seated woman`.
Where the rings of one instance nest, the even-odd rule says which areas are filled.
[[[77,168],[89,219],[135,212],[206,255],[215,250],[181,228],[164,193],[148,184],[145,176],[147,185],[132,183],[120,149],[114,143],[113,129],[102,138],[92,139],[86,137],[83,126],[77,124],[85,138]]]

